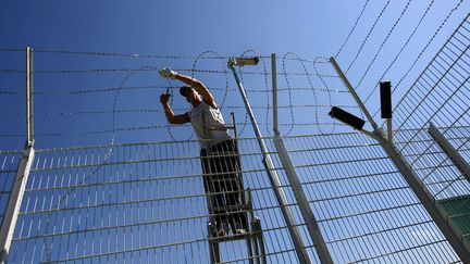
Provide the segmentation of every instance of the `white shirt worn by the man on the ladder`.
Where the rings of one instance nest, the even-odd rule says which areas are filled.
[[[213,109],[202,101],[199,105],[187,112],[187,114],[202,149],[210,148],[219,142],[231,139],[219,108]],[[206,116],[207,120],[206,125],[203,116]],[[208,139],[211,140],[207,141]]]

